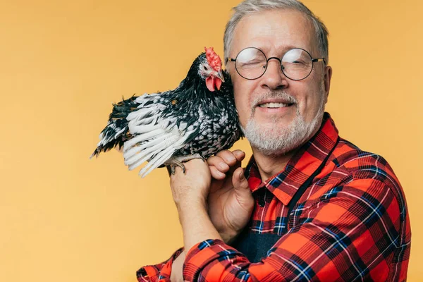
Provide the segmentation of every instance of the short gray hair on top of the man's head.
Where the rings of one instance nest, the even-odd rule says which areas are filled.
[[[297,0],[245,0],[238,4],[238,6],[232,8],[234,13],[231,19],[226,24],[225,35],[223,37],[223,50],[226,59],[229,57],[229,52],[231,51],[231,44],[233,39],[233,32],[236,25],[240,20],[247,15],[250,15],[259,11],[266,10],[275,10],[275,9],[290,9],[294,11],[299,11],[303,13],[306,18],[314,26],[317,39],[317,49],[320,52],[320,55],[326,59],[326,63],[329,62],[329,42],[328,35],[329,32],[323,22],[317,17],[314,16],[314,13],[309,10],[304,4]]]

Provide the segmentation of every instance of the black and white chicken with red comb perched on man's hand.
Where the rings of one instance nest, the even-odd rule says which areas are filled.
[[[123,147],[129,170],[145,161],[139,175],[183,161],[205,159],[242,137],[231,78],[213,47],[204,48],[175,90],[143,94],[113,104],[106,128],[91,157]],[[90,157],[90,158],[91,158]]]

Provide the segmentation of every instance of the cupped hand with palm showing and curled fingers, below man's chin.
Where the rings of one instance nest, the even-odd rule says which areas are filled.
[[[207,198],[210,219],[225,243],[231,243],[247,225],[254,208],[241,161],[245,153],[240,150],[221,151],[209,157],[212,183]]]

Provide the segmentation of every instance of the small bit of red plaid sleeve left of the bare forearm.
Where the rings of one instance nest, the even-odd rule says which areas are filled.
[[[172,264],[175,259],[183,252],[183,247],[176,250],[173,255],[164,262],[154,265],[142,266],[137,271],[137,281],[156,282],[171,281]]]

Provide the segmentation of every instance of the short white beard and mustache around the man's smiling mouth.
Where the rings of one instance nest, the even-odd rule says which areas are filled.
[[[241,126],[250,145],[266,156],[280,156],[307,142],[312,137],[314,130],[320,127],[323,120],[325,105],[324,82],[322,82],[319,92],[317,93],[321,97],[319,109],[312,121],[305,121],[304,117],[300,115],[298,103],[295,103],[292,105],[297,109],[295,118],[286,127],[280,128],[274,126],[279,119],[278,117],[275,117],[272,123],[267,123],[266,125],[257,123],[254,118],[255,105],[257,103],[253,102],[254,109],[252,109],[251,117],[247,121],[245,128]],[[290,99],[291,101],[295,100],[294,97],[286,94],[286,92],[269,93],[264,97],[285,97],[285,99]],[[264,97],[259,97],[257,100],[264,99]]]

